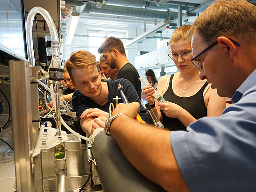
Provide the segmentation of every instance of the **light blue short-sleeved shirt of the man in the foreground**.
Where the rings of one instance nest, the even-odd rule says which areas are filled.
[[[171,144],[191,192],[256,191],[256,70],[220,117],[203,117]]]

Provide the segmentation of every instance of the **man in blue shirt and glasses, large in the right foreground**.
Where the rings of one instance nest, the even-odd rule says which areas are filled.
[[[254,192],[256,6],[214,1],[195,19],[190,36],[200,78],[233,104],[220,117],[190,124],[187,132],[138,124],[131,118],[139,104],[121,104],[113,115],[126,115],[112,121],[109,132],[129,162],[167,191]]]

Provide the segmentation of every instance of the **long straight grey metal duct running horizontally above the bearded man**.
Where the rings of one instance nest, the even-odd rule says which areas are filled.
[[[118,16],[130,16],[130,17],[141,17],[141,18],[152,18],[165,20],[167,18],[167,11],[147,10],[141,8],[123,7],[123,6],[112,6],[104,5],[102,8],[97,8],[96,3],[88,4],[83,13],[97,13],[97,14],[108,14]],[[178,16],[177,12],[171,12],[170,18],[174,19]]]

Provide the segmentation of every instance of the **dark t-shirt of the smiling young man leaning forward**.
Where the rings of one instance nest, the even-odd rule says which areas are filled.
[[[109,112],[109,105],[110,103],[114,104],[116,107],[116,101],[114,98],[120,98],[118,103],[123,103],[121,99],[121,93],[118,90],[118,84],[123,85],[123,92],[126,95],[128,102],[131,103],[133,101],[141,103],[134,87],[127,79],[110,79],[105,80],[101,79],[101,81],[107,82],[108,89],[109,89],[109,97],[108,101],[104,105],[99,105],[98,103],[92,101],[89,97],[84,96],[79,90],[75,90],[72,96],[72,105],[73,109],[76,112],[78,126],[80,127],[80,116],[84,110],[89,108],[98,108],[102,111]],[[141,119],[146,122],[147,124],[151,124],[150,119],[147,116],[147,112],[145,108],[140,104],[140,112],[138,113]]]

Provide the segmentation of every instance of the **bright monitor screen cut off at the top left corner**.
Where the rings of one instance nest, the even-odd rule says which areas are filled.
[[[27,59],[23,0],[0,1],[0,53]]]

